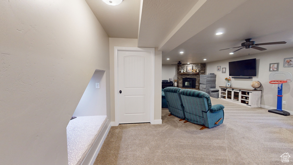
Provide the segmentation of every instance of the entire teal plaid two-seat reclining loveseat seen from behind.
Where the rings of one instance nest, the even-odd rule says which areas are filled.
[[[212,105],[207,93],[178,87],[166,87],[164,93],[170,115],[202,125],[201,130],[223,123],[224,106]]]

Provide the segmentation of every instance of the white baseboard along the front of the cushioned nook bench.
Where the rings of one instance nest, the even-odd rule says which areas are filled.
[[[81,163],[81,165],[93,165],[95,163],[95,160],[98,156],[98,153],[108,135],[108,132],[110,131],[112,122],[107,122],[102,131],[100,132],[99,136],[97,137],[95,143],[91,147],[91,149],[88,151],[87,156],[84,158],[84,161]],[[108,127],[107,127],[108,126]],[[91,154],[90,154],[91,153]],[[91,156],[90,156],[91,155]]]

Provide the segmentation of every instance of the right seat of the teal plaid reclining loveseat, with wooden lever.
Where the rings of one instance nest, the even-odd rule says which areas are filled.
[[[201,129],[212,128],[223,123],[224,106],[212,105],[207,93],[183,89],[180,90],[180,96],[184,106],[185,120],[204,125]]]

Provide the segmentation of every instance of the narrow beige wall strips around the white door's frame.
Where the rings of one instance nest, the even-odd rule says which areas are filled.
[[[111,122],[115,122],[115,82],[114,82],[114,46],[122,47],[137,47],[137,39],[129,38],[110,38],[110,93],[111,93]],[[162,72],[162,53],[161,51],[155,50],[155,102],[154,102],[154,119],[161,119],[161,72]],[[160,91],[157,92],[157,91]],[[160,96],[158,96],[160,95]],[[158,98],[159,102],[158,102]]]

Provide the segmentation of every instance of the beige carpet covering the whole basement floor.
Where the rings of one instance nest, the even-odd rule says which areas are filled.
[[[162,109],[163,124],[111,127],[94,165],[293,164],[293,116],[211,100],[225,106],[223,124],[199,130]]]

